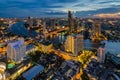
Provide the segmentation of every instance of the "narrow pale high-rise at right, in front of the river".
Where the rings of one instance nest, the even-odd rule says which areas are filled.
[[[97,57],[98,57],[100,63],[104,63],[104,60],[105,60],[105,49],[104,49],[104,47],[99,47],[98,48]]]

